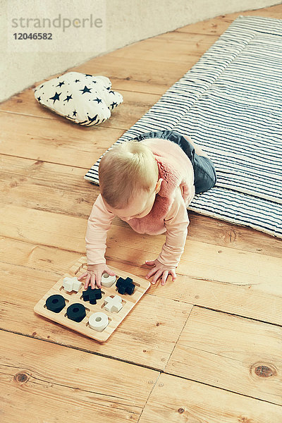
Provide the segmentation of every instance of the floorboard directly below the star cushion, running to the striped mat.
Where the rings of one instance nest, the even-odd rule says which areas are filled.
[[[123,130],[75,126],[63,118],[0,113],[1,154],[90,168]],[[13,131],[11,131],[13,128]]]

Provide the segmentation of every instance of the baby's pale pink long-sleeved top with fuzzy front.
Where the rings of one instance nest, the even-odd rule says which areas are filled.
[[[105,263],[106,235],[115,216],[126,221],[137,233],[156,235],[166,232],[166,242],[157,259],[166,266],[178,266],[188,231],[188,204],[195,195],[194,171],[183,150],[169,140],[142,141],[154,154],[163,178],[161,190],[145,218],[125,219],[110,212],[99,194],[88,219],[85,236],[87,263]]]

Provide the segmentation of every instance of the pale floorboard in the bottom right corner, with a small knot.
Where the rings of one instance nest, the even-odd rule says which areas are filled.
[[[139,423],[278,423],[282,407],[161,374]]]

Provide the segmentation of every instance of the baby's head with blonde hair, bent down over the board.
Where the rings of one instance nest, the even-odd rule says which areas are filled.
[[[114,146],[100,161],[99,185],[110,211],[125,219],[146,216],[161,188],[154,154],[134,140]]]

